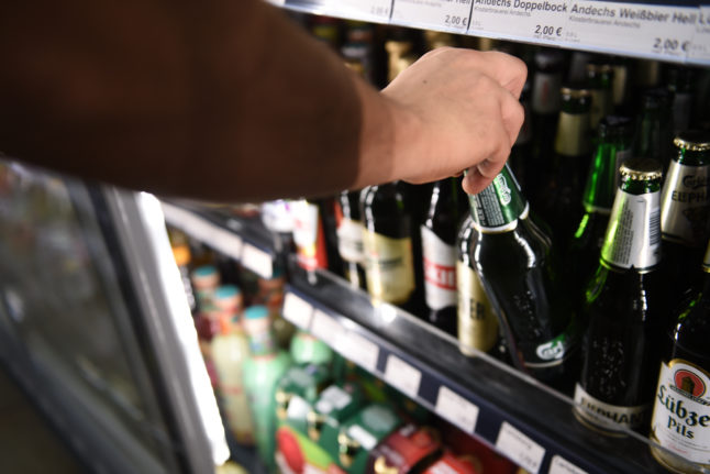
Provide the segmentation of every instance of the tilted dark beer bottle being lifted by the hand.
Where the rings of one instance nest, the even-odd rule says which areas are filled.
[[[472,255],[514,365],[570,388],[578,329],[550,236],[530,214],[508,165],[469,200],[476,229]]]

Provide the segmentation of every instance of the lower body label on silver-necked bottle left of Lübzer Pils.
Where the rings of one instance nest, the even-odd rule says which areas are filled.
[[[622,407],[618,405],[606,404],[589,395],[579,384],[575,387],[575,412],[583,421],[599,428],[619,428],[636,430],[643,428],[646,414],[651,408],[650,405],[639,405],[635,407]],[[600,421],[603,420],[603,421]],[[604,421],[609,421],[609,426]]]

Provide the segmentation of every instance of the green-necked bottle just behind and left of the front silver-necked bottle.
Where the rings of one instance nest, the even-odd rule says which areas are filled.
[[[598,145],[583,195],[585,213],[569,244],[569,265],[575,289],[581,289],[599,264],[599,252],[619,181],[619,167],[631,155],[632,121],[608,115],[599,122]]]

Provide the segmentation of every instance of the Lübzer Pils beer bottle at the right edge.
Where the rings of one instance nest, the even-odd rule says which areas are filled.
[[[651,452],[678,473],[710,469],[710,242],[701,269],[690,296],[673,311],[651,422],[651,439],[687,463],[654,445]]]

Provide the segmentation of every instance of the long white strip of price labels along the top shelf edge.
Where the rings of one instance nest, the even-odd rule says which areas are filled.
[[[375,23],[696,65],[710,64],[710,5],[697,1],[270,0]]]

